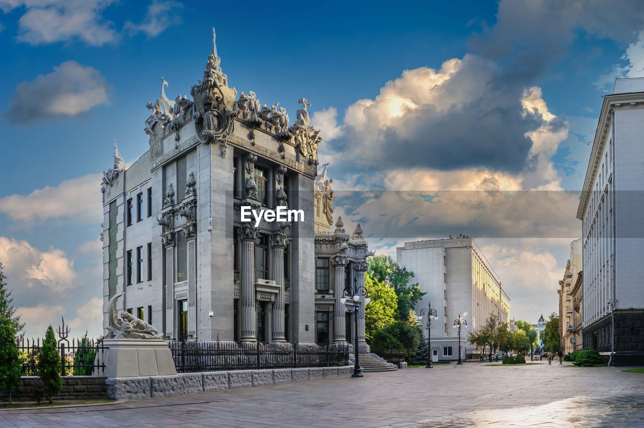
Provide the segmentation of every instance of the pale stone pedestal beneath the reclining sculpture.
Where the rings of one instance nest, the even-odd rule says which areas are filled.
[[[162,339],[105,339],[106,377],[176,375],[170,348]]]

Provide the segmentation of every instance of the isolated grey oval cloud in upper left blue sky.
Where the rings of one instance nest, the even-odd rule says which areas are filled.
[[[54,67],[52,73],[19,84],[6,115],[17,124],[69,118],[109,104],[107,90],[100,71],[66,61]]]

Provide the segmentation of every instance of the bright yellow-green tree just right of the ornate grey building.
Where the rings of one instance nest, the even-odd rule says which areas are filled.
[[[396,293],[384,281],[375,281],[365,274],[366,293],[371,301],[365,306],[366,339],[374,336],[375,331],[395,321]]]

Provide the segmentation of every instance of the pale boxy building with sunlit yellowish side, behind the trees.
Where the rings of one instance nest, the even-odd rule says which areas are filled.
[[[434,360],[459,358],[457,329],[453,328],[459,315],[468,323],[461,328],[461,358],[465,357],[466,347],[471,348],[468,333],[481,328],[491,313],[502,322],[509,321],[506,290],[473,248],[470,237],[407,242],[396,248],[396,256],[398,264],[414,273],[413,281],[426,293],[417,303],[416,313],[430,302],[438,313],[439,319],[431,323]]]

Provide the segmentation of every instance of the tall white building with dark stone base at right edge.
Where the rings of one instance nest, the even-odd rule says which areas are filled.
[[[583,348],[644,364],[644,79],[606,95],[577,218],[583,239]]]

